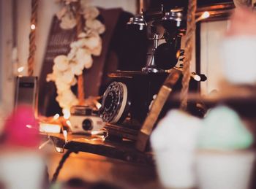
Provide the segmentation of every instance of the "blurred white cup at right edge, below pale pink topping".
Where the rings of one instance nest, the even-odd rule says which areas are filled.
[[[222,69],[228,82],[255,84],[256,82],[256,36],[230,36],[222,41]]]

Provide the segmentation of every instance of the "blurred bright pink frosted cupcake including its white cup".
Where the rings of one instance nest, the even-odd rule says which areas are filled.
[[[37,151],[38,123],[27,105],[15,109],[4,125],[0,153],[0,182],[4,188],[43,188],[45,163]]]

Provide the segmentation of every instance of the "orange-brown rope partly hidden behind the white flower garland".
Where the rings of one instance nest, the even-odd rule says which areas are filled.
[[[77,38],[78,35],[83,31],[82,26],[82,18],[80,15],[80,1],[78,1],[78,7],[76,12],[76,20],[77,20]],[[84,102],[84,88],[83,88],[83,73],[78,75],[78,101],[80,105],[83,105]]]

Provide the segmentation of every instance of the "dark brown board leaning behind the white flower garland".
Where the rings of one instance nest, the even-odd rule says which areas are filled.
[[[111,49],[111,40],[116,39],[116,26],[120,28],[118,21],[122,9],[99,9],[102,22],[105,24],[106,31],[102,34],[102,53],[100,56],[93,57],[93,66],[90,69],[83,71],[84,90],[86,98],[89,96],[98,96],[99,88],[102,85],[102,79],[105,75],[105,61],[108,59],[108,54]],[[132,15],[131,15],[132,16]],[[123,20],[124,24],[121,28],[126,26],[129,17]],[[70,43],[76,39],[76,28],[71,30],[61,29],[60,21],[54,17],[52,20],[50,34],[48,36],[48,45],[45,52],[45,58],[42,63],[41,74],[39,76],[39,114],[45,116],[55,115],[61,113],[61,108],[56,101],[56,86],[54,82],[46,82],[47,74],[53,71],[53,59],[56,55],[67,55],[70,50]],[[115,32],[114,32],[115,31]],[[124,34],[121,33],[122,36]],[[126,36],[124,36],[125,38]],[[118,38],[117,38],[118,39]],[[110,61],[113,65],[113,61]],[[76,92],[75,88],[72,88]]]

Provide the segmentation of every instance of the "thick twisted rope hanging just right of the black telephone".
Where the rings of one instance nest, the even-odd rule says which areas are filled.
[[[187,109],[187,96],[189,92],[189,80],[190,80],[190,62],[192,59],[193,50],[193,36],[195,34],[195,10],[197,7],[196,0],[189,0],[189,6],[187,9],[187,32],[185,41],[185,59],[181,88],[181,109]]]

